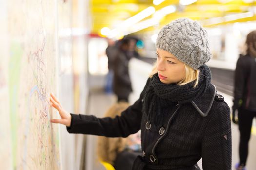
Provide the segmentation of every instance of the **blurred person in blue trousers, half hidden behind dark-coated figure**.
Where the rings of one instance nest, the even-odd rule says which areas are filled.
[[[112,93],[113,77],[114,77],[114,61],[118,52],[116,42],[112,39],[107,39],[108,47],[106,48],[106,55],[108,57],[108,74],[106,76],[105,92]]]

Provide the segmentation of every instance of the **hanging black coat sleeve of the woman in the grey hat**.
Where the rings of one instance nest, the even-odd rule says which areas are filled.
[[[231,170],[230,109],[222,102],[210,118],[202,141],[203,170]]]

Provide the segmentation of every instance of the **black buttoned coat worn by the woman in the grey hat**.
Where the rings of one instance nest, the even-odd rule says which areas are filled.
[[[214,85],[193,103],[170,105],[163,127],[149,126],[140,98],[114,119],[72,114],[69,133],[127,137],[141,129],[142,157],[133,170],[231,170],[230,109]],[[201,115],[207,115],[205,117]]]

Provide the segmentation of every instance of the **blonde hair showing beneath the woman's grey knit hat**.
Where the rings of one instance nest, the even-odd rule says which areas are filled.
[[[185,63],[184,63],[184,66],[185,66],[185,77],[180,82],[178,82],[177,85],[186,85],[196,80],[193,86],[194,88],[196,88],[199,82],[199,72],[200,72],[199,69],[195,70]],[[157,72],[158,72],[157,63],[155,63],[151,73],[149,74],[149,77],[152,78],[153,75],[156,74]]]

